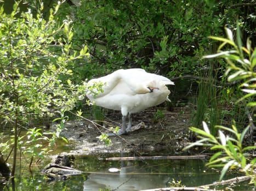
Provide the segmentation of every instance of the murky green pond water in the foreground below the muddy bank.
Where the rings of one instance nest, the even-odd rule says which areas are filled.
[[[39,172],[24,175],[18,190],[142,190],[169,187],[169,182],[181,181],[186,187],[196,187],[218,181],[219,173],[206,168],[206,160],[136,160],[107,161],[104,156],[76,156],[75,168],[84,171],[66,181],[48,182]],[[120,171],[110,172],[110,168]],[[233,178],[228,174],[225,178]],[[242,182],[234,190],[253,190]],[[222,189],[225,188],[222,187]],[[219,188],[218,188],[219,189]]]

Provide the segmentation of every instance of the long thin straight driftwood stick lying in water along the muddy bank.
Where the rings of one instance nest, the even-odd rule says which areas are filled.
[[[110,157],[106,160],[164,160],[164,159],[206,159],[206,155],[194,155],[194,156],[145,156],[145,157]]]

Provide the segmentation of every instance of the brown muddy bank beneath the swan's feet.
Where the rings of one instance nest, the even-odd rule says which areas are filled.
[[[99,154],[99,153],[134,153],[140,154],[179,154],[184,145],[189,142],[189,127],[191,126],[191,108],[175,108],[174,111],[163,111],[164,118],[153,122],[156,109],[151,108],[133,115],[133,125],[145,123],[145,128],[129,132],[126,135],[111,136],[111,146],[106,146],[97,136],[109,133],[104,128],[93,126],[86,120],[69,121],[62,132],[75,145],[72,154]],[[110,112],[103,123],[104,127],[121,126],[120,111]]]

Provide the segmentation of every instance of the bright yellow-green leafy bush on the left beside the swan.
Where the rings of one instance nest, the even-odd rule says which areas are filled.
[[[31,157],[42,157],[46,150],[39,143],[45,139],[52,143],[59,138],[64,128],[66,111],[83,97],[85,88],[74,85],[69,79],[72,70],[69,64],[78,58],[87,57],[87,47],[77,52],[72,50],[72,21],[55,20],[56,11],[50,9],[49,18],[43,18],[43,3],[32,14],[31,9],[19,13],[19,2],[15,2],[10,14],[0,8],[0,116],[1,121],[14,127],[13,171],[15,172],[18,144],[22,144],[18,129],[26,129],[29,146],[22,148]],[[46,139],[40,129],[27,129],[28,124],[43,116],[61,115],[60,127]],[[32,144],[32,145],[31,145]],[[22,144],[22,147],[25,147]]]

